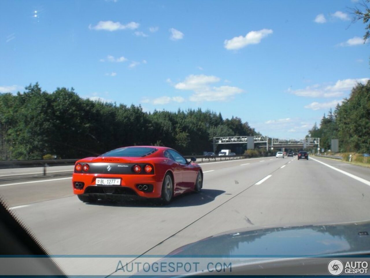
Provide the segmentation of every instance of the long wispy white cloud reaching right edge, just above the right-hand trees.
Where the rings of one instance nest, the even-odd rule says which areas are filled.
[[[366,83],[369,78],[359,79],[343,79],[338,80],[335,85],[324,86],[324,85],[313,85],[308,86],[305,89],[299,90],[288,90],[296,96],[305,97],[341,97],[344,93],[349,92],[357,83]]]

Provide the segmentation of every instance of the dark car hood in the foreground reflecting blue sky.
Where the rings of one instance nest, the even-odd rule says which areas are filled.
[[[370,221],[232,231],[182,246],[167,257],[330,257],[369,254]]]

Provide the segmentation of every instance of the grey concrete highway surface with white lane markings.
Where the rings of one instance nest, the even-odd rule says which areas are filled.
[[[0,182],[11,212],[53,255],[166,255],[221,232],[370,219],[370,169],[275,157],[202,164],[201,193],[168,206],[87,204],[70,176]]]

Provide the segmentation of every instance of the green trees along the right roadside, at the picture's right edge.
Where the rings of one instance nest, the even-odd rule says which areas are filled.
[[[321,148],[329,150],[331,139],[339,139],[340,152],[370,152],[370,80],[357,84],[350,97],[324,114],[320,127],[309,130],[310,137],[319,137]]]

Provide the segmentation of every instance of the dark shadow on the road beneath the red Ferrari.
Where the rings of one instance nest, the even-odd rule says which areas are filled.
[[[186,206],[200,206],[206,203],[212,202],[215,198],[225,193],[223,190],[216,189],[202,189],[201,192],[185,193],[180,196],[176,196],[172,199],[169,205],[161,205],[157,200],[151,199],[125,199],[120,200],[99,200],[95,203],[87,203],[87,205],[98,205],[98,206],[126,206],[126,207],[154,207],[154,208],[176,208]]]

